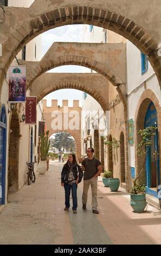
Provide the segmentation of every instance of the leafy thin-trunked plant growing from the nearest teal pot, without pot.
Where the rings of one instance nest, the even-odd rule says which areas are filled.
[[[152,144],[152,137],[156,135],[157,127],[148,126],[143,130],[139,130],[138,133],[141,136],[141,141],[138,145],[137,155],[140,157],[144,157],[143,166],[138,174],[138,176],[134,179],[134,185],[131,188],[131,194],[140,194],[146,191],[145,184],[139,184],[137,181],[140,175],[143,173],[146,164],[146,153]]]

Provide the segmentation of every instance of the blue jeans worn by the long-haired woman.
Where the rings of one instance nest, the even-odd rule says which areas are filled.
[[[64,184],[65,189],[65,206],[70,208],[70,192],[72,191],[73,207],[72,210],[77,210],[77,184]]]

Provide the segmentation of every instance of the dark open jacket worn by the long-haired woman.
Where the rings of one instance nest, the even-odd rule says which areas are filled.
[[[70,167],[64,166],[62,169],[62,172],[61,172],[61,183],[68,181],[69,172],[70,172]],[[77,179],[79,176],[78,183],[80,183],[80,181],[83,178],[83,171],[80,168],[79,164],[76,164],[76,166],[72,168],[72,172],[73,172],[73,176],[75,177],[75,179]]]

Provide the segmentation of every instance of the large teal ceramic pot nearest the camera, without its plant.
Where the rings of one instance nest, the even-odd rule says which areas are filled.
[[[146,207],[146,194],[130,194],[131,206],[134,212],[144,212]]]

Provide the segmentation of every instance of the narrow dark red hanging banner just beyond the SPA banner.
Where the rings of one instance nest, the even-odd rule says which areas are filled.
[[[26,97],[25,124],[36,124],[36,96]]]

